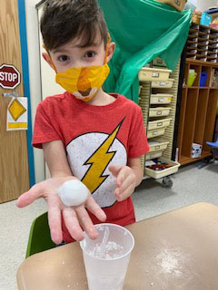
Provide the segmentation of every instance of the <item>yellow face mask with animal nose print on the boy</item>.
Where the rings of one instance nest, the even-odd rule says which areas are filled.
[[[106,63],[110,40],[111,38],[109,37],[105,50],[104,65],[72,67],[64,73],[57,73],[50,57],[50,62],[56,72],[55,82],[59,83],[67,92],[72,93],[76,99],[84,102],[93,99],[94,95],[102,87],[110,72],[109,66]]]

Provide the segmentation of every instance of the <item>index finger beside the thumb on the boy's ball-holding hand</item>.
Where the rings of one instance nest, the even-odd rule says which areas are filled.
[[[60,244],[63,241],[61,208],[59,208],[58,204],[59,200],[57,196],[48,198],[48,224],[51,238],[55,244]]]

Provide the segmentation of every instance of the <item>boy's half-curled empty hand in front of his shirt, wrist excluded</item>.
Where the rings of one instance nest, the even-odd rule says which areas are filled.
[[[116,178],[114,195],[118,201],[129,198],[136,187],[134,170],[128,166],[109,166],[109,170]]]

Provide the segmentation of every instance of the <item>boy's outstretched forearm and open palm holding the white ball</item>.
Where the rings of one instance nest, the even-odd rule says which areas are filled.
[[[91,238],[97,237],[97,232],[93,222],[86,211],[88,208],[97,218],[104,221],[105,214],[92,198],[91,194],[85,203],[78,207],[65,207],[61,202],[57,190],[62,184],[70,179],[76,179],[69,168],[64,144],[61,140],[47,142],[43,145],[45,160],[50,170],[51,179],[47,179],[26,191],[17,200],[17,206],[23,208],[36,198],[45,198],[48,203],[48,222],[51,231],[51,237],[54,243],[59,244],[63,241],[61,214],[63,214],[64,223],[69,233],[75,240],[84,238],[83,229]]]

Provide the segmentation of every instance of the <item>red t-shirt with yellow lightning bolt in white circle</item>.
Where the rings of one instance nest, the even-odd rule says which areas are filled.
[[[69,92],[47,97],[37,108],[33,146],[62,140],[73,175],[90,189],[104,209],[106,222],[121,226],[135,221],[131,198],[116,201],[116,179],[109,165],[124,166],[129,158],[148,151],[141,108],[123,95],[111,94],[115,101],[104,106],[77,100]],[[94,224],[100,221],[90,213]],[[73,239],[63,222],[66,242]]]

